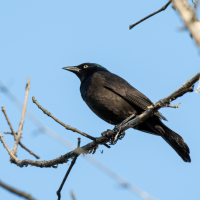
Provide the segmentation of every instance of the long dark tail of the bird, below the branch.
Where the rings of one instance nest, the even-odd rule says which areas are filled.
[[[152,121],[154,123],[152,123]],[[177,153],[178,155],[185,161],[191,162],[190,158],[190,150],[187,144],[184,142],[183,138],[165,126],[159,119],[152,120],[150,123],[147,120],[147,125],[154,132],[159,134]],[[157,121],[155,125],[155,121]],[[154,125],[153,125],[154,124]]]

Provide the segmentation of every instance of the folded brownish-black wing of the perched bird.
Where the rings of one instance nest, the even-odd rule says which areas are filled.
[[[140,110],[147,110],[147,107],[153,104],[149,98],[135,89],[121,77],[111,74],[110,72],[105,73],[103,77],[105,88],[121,96],[131,105],[138,107]],[[167,119],[162,116],[161,113],[155,112],[155,115],[167,121]]]

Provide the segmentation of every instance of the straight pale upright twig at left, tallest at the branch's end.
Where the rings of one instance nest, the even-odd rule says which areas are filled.
[[[22,109],[22,117],[21,117],[21,121],[20,121],[20,124],[19,124],[18,136],[15,140],[15,144],[14,144],[14,147],[13,147],[13,154],[14,155],[16,155],[16,153],[17,153],[17,147],[18,147],[18,144],[19,144],[20,139],[21,139],[22,128],[23,128],[24,118],[25,118],[25,113],[26,113],[26,106],[27,106],[27,102],[28,102],[29,89],[30,89],[30,78],[27,79],[27,83],[26,83],[26,92],[25,92],[24,106],[23,106],[23,109]]]

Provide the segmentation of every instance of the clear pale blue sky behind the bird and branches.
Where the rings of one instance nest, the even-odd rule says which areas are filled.
[[[53,131],[77,143],[78,134],[67,131],[32,103],[38,102],[66,124],[94,137],[113,126],[99,119],[80,96],[80,81],[62,67],[95,62],[120,75],[153,102],[164,98],[200,71],[199,50],[188,31],[180,31],[182,20],[171,6],[129,30],[129,25],[161,8],[167,1],[1,1],[0,67],[2,81],[21,101],[25,83],[31,78],[28,110]],[[195,85],[195,88],[197,84]],[[198,199],[200,179],[200,95],[189,93],[174,104],[179,109],[160,111],[166,124],[179,133],[191,150],[191,163],[184,163],[160,137],[136,130],[111,149],[100,146],[94,155],[133,185],[159,200]],[[0,93],[9,119],[17,131],[21,110]],[[3,113],[0,131],[9,131]],[[25,119],[22,142],[41,160],[50,160],[70,151]],[[8,146],[13,138],[4,135]],[[81,145],[88,143],[81,139]],[[100,150],[104,150],[101,154]],[[29,192],[36,199],[55,200],[56,191],[69,163],[57,169],[19,168],[9,162],[0,145],[0,179]],[[20,147],[19,159],[35,159]],[[62,190],[70,199],[73,190],[80,199],[140,198],[122,188],[80,156]],[[21,198],[0,188],[2,199]]]

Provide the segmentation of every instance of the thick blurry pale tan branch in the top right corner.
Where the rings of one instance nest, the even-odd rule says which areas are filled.
[[[200,49],[200,21],[197,19],[195,11],[187,0],[173,0],[173,3]]]

